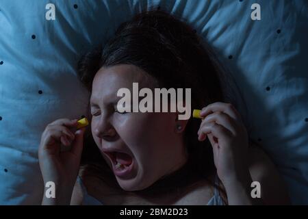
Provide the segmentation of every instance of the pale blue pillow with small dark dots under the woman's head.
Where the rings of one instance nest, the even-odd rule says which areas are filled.
[[[53,3],[55,20],[52,19]],[[253,3],[261,20],[253,21]],[[40,136],[57,118],[86,115],[82,54],[146,8],[172,12],[216,51],[240,87],[249,133],[277,164],[294,204],[308,203],[307,1],[2,1],[0,204],[38,205]],[[240,107],[240,106],[239,106]]]

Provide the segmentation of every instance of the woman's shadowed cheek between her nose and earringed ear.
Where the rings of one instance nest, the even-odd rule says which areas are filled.
[[[119,125],[120,138],[142,164],[157,163],[172,153],[175,131],[168,114],[135,114]]]

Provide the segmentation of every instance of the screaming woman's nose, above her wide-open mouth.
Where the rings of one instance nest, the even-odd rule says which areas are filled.
[[[103,118],[101,118],[97,125],[94,127],[94,134],[107,142],[116,140],[118,136],[116,129],[114,129],[112,124]]]

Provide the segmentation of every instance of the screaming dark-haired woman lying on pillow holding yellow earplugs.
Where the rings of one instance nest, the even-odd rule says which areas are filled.
[[[68,118],[42,134],[42,176],[57,188],[56,198],[44,196],[42,204],[289,203],[274,165],[258,146],[248,146],[242,116],[224,103],[230,94],[221,69],[195,31],[170,14],[144,12],[120,25],[103,49],[79,62],[91,92],[91,135],[84,143],[85,129],[72,133],[77,120]],[[191,88],[191,107],[202,108],[204,119],[118,112],[117,91],[132,91],[134,82],[140,89]],[[61,142],[72,149],[60,151]],[[260,198],[251,196],[253,181],[261,185]]]

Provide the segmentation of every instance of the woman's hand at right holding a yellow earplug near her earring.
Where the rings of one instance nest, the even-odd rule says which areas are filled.
[[[222,183],[238,181],[248,172],[248,134],[240,114],[230,103],[216,102],[201,110],[198,140],[209,138]]]

